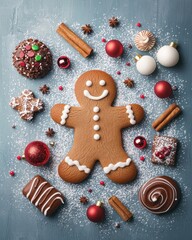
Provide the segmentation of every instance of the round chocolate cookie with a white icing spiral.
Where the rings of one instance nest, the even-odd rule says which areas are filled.
[[[155,177],[140,188],[139,199],[150,212],[162,214],[177,205],[180,199],[180,189],[177,182],[170,177]]]

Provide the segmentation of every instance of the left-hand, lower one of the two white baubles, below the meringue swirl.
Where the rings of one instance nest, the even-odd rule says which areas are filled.
[[[140,56],[139,60],[137,60],[136,68],[142,75],[150,75],[156,69],[156,62],[151,56]]]

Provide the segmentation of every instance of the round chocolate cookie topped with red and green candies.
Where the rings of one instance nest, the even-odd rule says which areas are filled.
[[[17,71],[27,78],[42,78],[52,68],[49,48],[37,39],[27,39],[19,43],[12,59]]]

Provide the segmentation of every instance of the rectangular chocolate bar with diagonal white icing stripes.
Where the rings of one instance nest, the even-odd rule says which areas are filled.
[[[53,214],[64,203],[62,193],[39,175],[23,188],[23,195],[45,216]]]

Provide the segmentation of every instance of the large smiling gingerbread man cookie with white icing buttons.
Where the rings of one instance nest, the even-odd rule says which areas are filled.
[[[70,183],[82,182],[99,161],[113,182],[132,181],[137,169],[123,149],[121,130],[141,122],[143,108],[138,104],[113,107],[115,82],[100,70],[82,74],[75,94],[80,107],[56,104],[51,109],[55,122],[75,129],[73,147],[58,168],[60,177]]]

